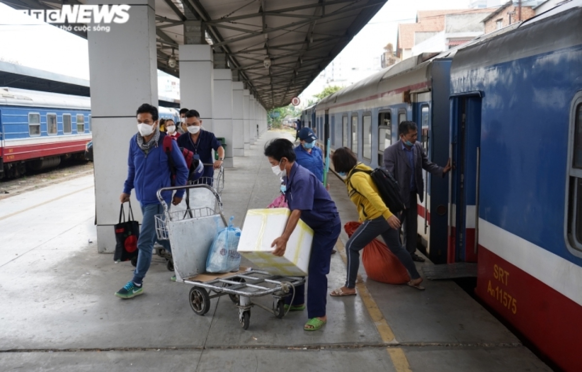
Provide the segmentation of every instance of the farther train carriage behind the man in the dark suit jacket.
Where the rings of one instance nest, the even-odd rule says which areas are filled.
[[[399,141],[399,123],[414,121],[428,158],[446,164],[452,54],[414,56],[324,98],[317,105],[317,123],[326,133],[321,144],[329,136],[332,152],[349,147],[364,164],[384,166],[384,150]],[[419,198],[416,206],[418,234],[424,253],[434,263],[445,263],[448,179],[427,174],[424,179],[423,201]]]

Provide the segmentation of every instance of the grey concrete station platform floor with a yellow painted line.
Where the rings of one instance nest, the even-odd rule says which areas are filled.
[[[226,169],[224,214],[234,215],[235,225],[278,193],[262,155],[275,137],[293,139],[266,132],[235,158],[236,168]],[[335,176],[329,183],[342,223],[357,221],[343,183]],[[426,280],[420,292],[368,280],[361,267],[359,295],[328,297],[328,323],[317,332],[303,331],[306,312],[280,320],[258,309],[245,331],[225,297],[197,316],[190,286],[171,282],[157,256],[144,295],[121,300],[113,293],[132,278],[133,267],[97,253],[94,219],[90,175],[0,200],[0,370],[551,370],[452,281]],[[345,281],[346,241],[342,232],[329,290]]]

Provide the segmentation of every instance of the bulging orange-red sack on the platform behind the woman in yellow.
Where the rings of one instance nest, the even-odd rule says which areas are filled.
[[[352,236],[360,227],[360,222],[347,222],[343,226],[347,236]],[[388,284],[404,284],[410,281],[408,271],[398,257],[396,257],[386,245],[378,239],[372,240],[364,247],[362,262],[368,278],[377,282]]]

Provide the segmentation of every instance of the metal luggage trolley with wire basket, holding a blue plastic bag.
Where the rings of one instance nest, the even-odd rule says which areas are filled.
[[[170,211],[161,193],[170,190],[190,191],[190,208],[186,211]],[[295,287],[305,283],[304,278],[282,277],[265,271],[247,270],[236,274],[217,274],[207,282],[197,280],[198,274],[206,269],[208,251],[220,229],[226,227],[222,215],[222,200],[217,190],[208,185],[188,185],[165,187],[158,190],[158,200],[164,207],[163,215],[156,215],[158,239],[168,239],[172,245],[173,268],[176,282],[192,285],[188,296],[194,313],[203,316],[210,310],[210,300],[228,295],[239,308],[239,321],[247,330],[250,322],[250,309],[261,307],[278,318],[285,316],[284,299],[294,296]],[[271,295],[272,309],[251,298]]]

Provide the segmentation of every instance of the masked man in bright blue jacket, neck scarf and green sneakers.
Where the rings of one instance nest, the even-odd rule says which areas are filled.
[[[159,131],[157,108],[143,104],[137,109],[137,130],[138,133],[129,141],[127,179],[119,200],[121,203],[129,201],[132,189],[136,189],[143,219],[140,238],[137,240],[139,256],[137,256],[133,279],[115,293],[115,296],[122,299],[130,299],[143,293],[143,279],[150,268],[152,249],[157,240],[154,216],[164,213],[157,192],[162,187],[171,186],[168,156],[172,157],[172,162],[176,167],[176,186],[186,185],[189,172],[176,141],[172,141],[170,154],[164,152],[162,144],[166,134]],[[177,206],[182,201],[183,194],[184,190],[178,190],[173,199],[172,192],[164,192],[162,197],[166,204],[169,205],[172,200],[172,204]],[[159,243],[170,251],[168,240],[160,240]]]

